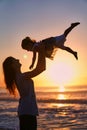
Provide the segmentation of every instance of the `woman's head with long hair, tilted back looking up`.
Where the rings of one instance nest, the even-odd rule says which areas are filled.
[[[3,62],[3,73],[4,80],[6,83],[6,88],[11,94],[15,94],[15,74],[17,68],[19,69],[21,64],[19,60],[13,57],[7,57]]]

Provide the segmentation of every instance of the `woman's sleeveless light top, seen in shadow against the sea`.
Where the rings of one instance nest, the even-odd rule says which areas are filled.
[[[16,85],[20,94],[18,115],[38,115],[33,80],[21,73],[16,76]]]

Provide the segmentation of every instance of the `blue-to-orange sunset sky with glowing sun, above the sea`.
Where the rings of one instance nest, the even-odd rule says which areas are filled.
[[[22,72],[30,71],[32,53],[21,48],[23,38],[58,36],[78,21],[65,42],[78,60],[58,49],[53,61],[46,59],[46,71],[33,78],[36,86],[87,85],[87,0],[0,0],[0,86],[6,57],[20,59]]]

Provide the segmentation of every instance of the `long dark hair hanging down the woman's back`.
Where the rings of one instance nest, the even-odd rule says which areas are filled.
[[[3,62],[3,73],[4,73],[4,80],[6,83],[6,88],[10,92],[10,94],[15,95],[15,70],[12,67],[13,57],[7,57]]]

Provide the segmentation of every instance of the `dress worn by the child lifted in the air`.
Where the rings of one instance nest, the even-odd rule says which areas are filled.
[[[64,35],[50,37],[42,40],[41,43],[45,44],[45,56],[53,60],[58,48],[61,48],[61,46],[64,45],[65,41],[66,39]],[[39,46],[39,44],[40,42],[36,42],[33,48],[35,46]]]

